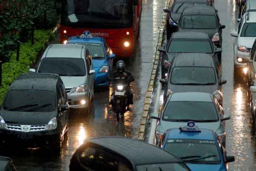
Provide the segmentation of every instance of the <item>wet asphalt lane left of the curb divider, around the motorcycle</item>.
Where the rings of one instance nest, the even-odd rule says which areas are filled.
[[[115,114],[109,111],[111,89],[95,91],[91,115],[71,113],[68,136],[60,156],[44,149],[20,148],[1,149],[0,155],[11,157],[18,171],[66,171],[72,154],[88,137],[120,135],[137,138],[164,5],[165,0],[143,0],[136,52],[131,60],[126,61],[127,69],[135,78],[131,84],[134,106],[132,112],[125,114],[123,121],[118,123]]]

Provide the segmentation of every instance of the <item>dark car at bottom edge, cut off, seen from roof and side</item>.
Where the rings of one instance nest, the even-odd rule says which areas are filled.
[[[85,141],[73,154],[70,171],[190,171],[179,158],[162,149],[126,137]]]

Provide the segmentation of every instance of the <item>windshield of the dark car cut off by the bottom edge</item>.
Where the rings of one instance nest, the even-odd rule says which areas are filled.
[[[148,165],[137,165],[136,169],[138,171],[189,171],[183,163],[154,163]]]

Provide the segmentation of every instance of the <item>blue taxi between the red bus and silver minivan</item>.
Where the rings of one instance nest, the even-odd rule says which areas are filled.
[[[115,54],[108,46],[104,38],[93,37],[89,31],[83,32],[80,36],[72,36],[67,44],[82,44],[89,49],[93,59],[95,87],[108,87],[108,77],[111,75]]]

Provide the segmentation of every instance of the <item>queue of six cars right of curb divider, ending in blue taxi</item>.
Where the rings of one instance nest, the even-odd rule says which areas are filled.
[[[208,0],[174,0],[167,12],[167,42],[160,47],[163,104],[154,143],[183,160],[191,170],[227,170],[235,160],[225,150],[222,108],[222,30]]]

